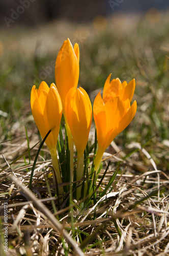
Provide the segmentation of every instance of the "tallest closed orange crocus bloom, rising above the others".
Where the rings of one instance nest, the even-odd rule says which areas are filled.
[[[65,98],[68,91],[77,88],[79,78],[79,47],[74,48],[69,40],[64,41],[55,63],[55,82],[61,96],[63,113],[65,115]]]

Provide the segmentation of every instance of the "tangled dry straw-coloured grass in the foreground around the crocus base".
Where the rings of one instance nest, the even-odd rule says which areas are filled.
[[[150,169],[135,174],[134,169],[143,166],[134,159],[140,159],[142,154]],[[109,155],[105,154],[105,158]],[[118,161],[122,163],[121,173],[112,184],[114,192],[107,193],[96,205],[91,204],[82,212],[76,201],[66,208],[64,201],[58,210],[57,198],[52,197],[51,178],[48,178],[51,195],[46,185],[51,169],[49,161],[36,165],[34,194],[23,185],[29,184],[30,172],[26,173],[25,169],[32,164],[18,167],[15,163],[11,170],[6,168],[1,173],[0,191],[1,200],[8,202],[9,210],[7,255],[67,255],[71,252],[73,255],[169,255],[169,177],[156,168],[144,149],[125,160],[118,155],[111,159],[112,166],[101,184],[98,198]],[[100,178],[103,172],[104,169]],[[69,201],[69,195],[66,200]],[[2,205],[2,215],[3,210]]]

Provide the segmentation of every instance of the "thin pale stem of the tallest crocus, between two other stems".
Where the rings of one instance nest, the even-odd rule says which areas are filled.
[[[74,150],[73,150],[73,138],[72,138],[72,133],[70,131],[70,127],[68,125],[66,115],[65,117],[65,124],[66,124],[66,130],[68,134],[68,144],[69,144],[69,151],[70,151],[70,181],[73,181],[73,157],[74,157]]]

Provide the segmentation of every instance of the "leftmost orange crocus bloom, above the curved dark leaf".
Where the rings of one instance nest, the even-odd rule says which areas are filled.
[[[55,84],[50,88],[42,81],[39,89],[33,86],[31,91],[31,109],[41,137],[51,130],[45,140],[49,150],[57,146],[60,122],[62,117],[62,102]]]

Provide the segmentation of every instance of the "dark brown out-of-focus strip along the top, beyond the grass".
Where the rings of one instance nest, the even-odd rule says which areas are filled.
[[[150,8],[164,10],[168,6],[168,0],[1,0],[0,13],[2,24],[8,17],[16,24],[34,26],[57,18],[89,22],[96,15],[107,16],[112,11],[143,13]]]

